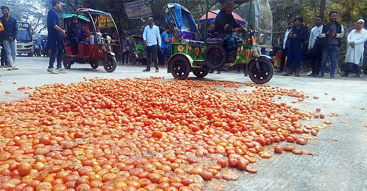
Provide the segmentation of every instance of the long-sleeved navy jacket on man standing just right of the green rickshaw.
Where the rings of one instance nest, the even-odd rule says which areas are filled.
[[[302,25],[300,28],[297,29],[297,27],[294,26],[291,32],[293,32],[293,34],[296,34],[297,36],[296,38],[288,37],[285,48],[288,48],[289,50],[302,52],[304,42],[308,40],[308,28]]]

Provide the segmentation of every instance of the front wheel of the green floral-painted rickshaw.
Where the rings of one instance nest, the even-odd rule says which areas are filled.
[[[253,59],[249,65],[249,77],[256,84],[264,84],[270,81],[274,74],[274,67],[271,62],[260,58],[260,70],[256,68],[256,61]]]

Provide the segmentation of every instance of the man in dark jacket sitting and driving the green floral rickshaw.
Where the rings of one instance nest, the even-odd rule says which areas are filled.
[[[226,1],[221,11],[215,18],[214,34],[223,39],[227,44],[227,61],[233,62],[236,59],[236,43],[242,42],[241,39],[232,36],[233,32],[239,32],[241,24],[237,23],[232,15],[233,2]]]

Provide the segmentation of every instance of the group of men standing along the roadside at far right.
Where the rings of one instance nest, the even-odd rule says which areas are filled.
[[[338,12],[331,11],[329,12],[329,23],[322,25],[323,17],[317,16],[315,18],[316,26],[311,29],[310,34],[308,28],[303,25],[302,17],[289,22],[281,43],[282,56],[280,68],[277,72],[283,72],[283,76],[289,76],[295,72],[295,76],[299,76],[302,52],[304,48],[307,48],[307,56],[312,62],[312,72],[308,76],[323,78],[326,63],[330,59],[330,78],[334,79],[338,51],[342,45],[341,39],[344,36],[344,26],[337,22],[337,18]],[[367,40],[367,30],[363,28],[364,24],[363,19],[358,20],[356,28],[348,34],[345,56],[347,67],[342,76],[348,76],[350,72],[353,72],[356,73],[356,77],[360,77],[364,43]],[[305,44],[307,41],[308,47]],[[285,63],[286,57],[287,62]]]

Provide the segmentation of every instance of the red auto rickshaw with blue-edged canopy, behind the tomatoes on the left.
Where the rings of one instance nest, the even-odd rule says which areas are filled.
[[[89,63],[93,69],[103,66],[107,72],[114,72],[117,66],[113,48],[119,45],[118,31],[114,19],[110,13],[93,10],[90,8],[80,8],[75,14],[68,14],[62,17],[64,30],[68,30],[72,17],[78,18],[78,48],[77,53],[71,51],[71,43],[64,40],[65,51],[63,64],[66,69],[70,69],[75,62],[79,64]],[[91,23],[92,16],[96,17],[97,23],[92,22],[94,31],[99,28],[100,32],[93,32],[94,45],[86,41],[85,26]],[[111,34],[117,33],[116,39],[111,39]]]

